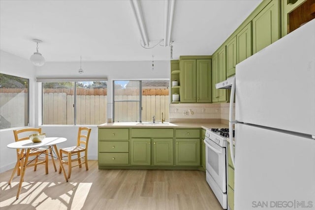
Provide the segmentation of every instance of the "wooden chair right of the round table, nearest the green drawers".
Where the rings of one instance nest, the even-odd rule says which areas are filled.
[[[71,176],[71,168],[79,166],[82,168],[82,164],[85,164],[85,168],[88,171],[88,144],[91,133],[91,128],[89,127],[79,127],[77,145],[68,148],[60,149],[60,158],[63,164],[68,165],[68,179]],[[84,152],[84,156],[81,156],[81,152]],[[65,155],[64,155],[65,154]],[[72,159],[73,155],[77,155],[75,159]],[[63,157],[67,157],[67,161],[63,160]],[[84,159],[84,162],[81,162]],[[78,161],[77,165],[72,165],[71,162]],[[59,173],[61,173],[61,166],[59,167]]]

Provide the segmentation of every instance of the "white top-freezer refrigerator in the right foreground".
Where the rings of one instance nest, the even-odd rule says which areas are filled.
[[[236,65],[234,210],[315,210],[315,20]]]

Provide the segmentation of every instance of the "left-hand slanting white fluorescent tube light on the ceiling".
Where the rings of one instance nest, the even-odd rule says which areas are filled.
[[[140,31],[141,41],[144,47],[149,47],[149,38],[147,29],[144,23],[143,14],[139,0],[130,0],[133,15],[136,19],[138,30]],[[142,44],[141,44],[142,45]]]

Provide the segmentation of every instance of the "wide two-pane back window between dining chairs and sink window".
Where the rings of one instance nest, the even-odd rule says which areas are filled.
[[[43,124],[106,122],[107,81],[43,82],[42,88]]]

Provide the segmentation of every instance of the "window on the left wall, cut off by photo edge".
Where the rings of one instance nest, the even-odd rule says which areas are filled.
[[[29,80],[0,74],[0,129],[29,124]]]

